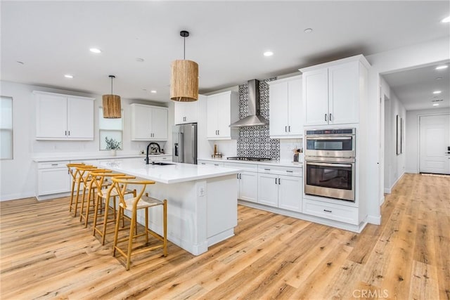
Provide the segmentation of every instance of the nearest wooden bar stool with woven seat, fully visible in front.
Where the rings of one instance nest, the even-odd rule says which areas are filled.
[[[117,190],[117,195],[119,195],[119,211],[117,214],[116,222],[115,222],[115,233],[114,233],[114,250],[113,250],[113,256],[115,256],[115,252],[120,252],[123,256],[127,258],[127,270],[129,270],[130,262],[131,262],[131,254],[139,254],[142,252],[147,251],[153,251],[155,249],[161,249],[164,256],[167,256],[167,200],[158,200],[153,197],[148,197],[148,194],[143,195],[146,186],[149,184],[155,184],[155,181],[140,181],[136,179],[128,179],[128,178],[112,178],[113,184],[115,189]],[[137,193],[136,196],[125,199],[124,198],[124,191],[127,190],[128,185],[141,185],[139,188],[141,189],[139,193]],[[157,207],[162,206],[162,226],[163,226],[163,236],[158,235],[158,233],[153,232],[152,230],[148,229],[148,209],[150,207]],[[136,227],[136,220],[137,220],[137,211],[139,209],[144,209],[145,211],[145,232],[141,234],[137,234],[134,232]],[[119,223],[120,218],[124,214],[124,211],[130,211],[131,212],[131,222],[130,222],[130,228],[129,228],[129,236],[124,237],[122,239],[118,239],[119,236]],[[162,243],[153,245],[152,247],[146,247],[141,248],[137,247],[136,249],[133,249],[133,240],[136,239],[136,237],[141,237],[145,235],[146,237],[146,245],[148,244],[148,233],[150,235],[153,235],[156,239],[160,240]],[[120,247],[117,246],[119,242],[128,242],[127,250],[120,249]]]

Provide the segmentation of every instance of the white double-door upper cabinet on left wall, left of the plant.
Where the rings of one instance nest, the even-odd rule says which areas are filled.
[[[94,140],[94,98],[33,91],[37,140]]]

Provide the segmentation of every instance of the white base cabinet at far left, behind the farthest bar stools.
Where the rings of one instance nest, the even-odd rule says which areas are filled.
[[[70,191],[69,162],[40,162],[37,165],[37,195],[51,195]]]

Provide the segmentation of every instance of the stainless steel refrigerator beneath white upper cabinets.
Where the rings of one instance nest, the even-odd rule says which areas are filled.
[[[197,164],[197,123],[172,127],[172,162]]]

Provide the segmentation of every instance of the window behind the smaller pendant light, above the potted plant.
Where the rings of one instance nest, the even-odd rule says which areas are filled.
[[[122,110],[122,116],[124,112]],[[100,132],[100,150],[110,150],[106,145],[106,139],[110,141],[116,141],[119,143],[120,148],[117,150],[122,150],[122,132],[124,129],[123,117],[120,119],[105,119],[103,118],[103,107],[98,110],[98,131]]]

